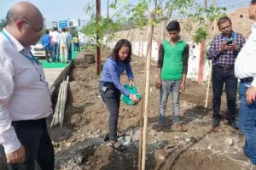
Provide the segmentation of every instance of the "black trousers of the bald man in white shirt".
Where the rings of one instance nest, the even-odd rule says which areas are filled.
[[[54,170],[55,152],[49,139],[45,119],[12,122],[20,143],[25,148],[24,162],[7,164],[9,170],[34,170],[35,160],[42,170]],[[5,156],[4,156],[5,157]]]

